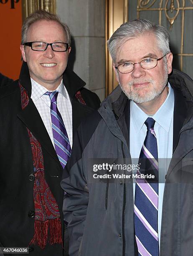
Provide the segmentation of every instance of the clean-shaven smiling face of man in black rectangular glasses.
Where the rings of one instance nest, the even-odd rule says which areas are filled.
[[[39,20],[28,29],[27,41],[66,43],[66,35],[58,22]],[[28,64],[30,77],[48,90],[55,90],[66,69],[71,48],[65,52],[56,52],[48,46],[46,51],[33,51],[30,46],[21,45],[20,49],[23,60]]]

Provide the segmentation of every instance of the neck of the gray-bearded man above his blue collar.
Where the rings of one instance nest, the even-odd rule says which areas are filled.
[[[154,115],[157,112],[157,110],[161,107],[163,102],[165,102],[165,99],[167,98],[167,96],[168,96],[168,87],[166,86],[163,92],[154,100],[143,102],[143,103],[136,103],[136,104],[147,115]]]

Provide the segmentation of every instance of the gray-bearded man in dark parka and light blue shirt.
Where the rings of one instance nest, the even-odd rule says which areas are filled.
[[[193,80],[148,20],[107,46],[119,85],[77,130],[61,182],[69,255],[191,256]]]

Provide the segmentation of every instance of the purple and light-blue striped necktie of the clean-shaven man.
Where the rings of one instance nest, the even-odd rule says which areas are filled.
[[[58,155],[58,159],[62,167],[64,168],[66,162],[71,156],[71,146],[61,114],[57,108],[58,91],[46,92],[45,94],[49,95],[51,100],[50,109],[53,141],[55,145],[56,154]]]

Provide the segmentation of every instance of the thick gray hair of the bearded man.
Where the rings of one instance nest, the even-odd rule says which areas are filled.
[[[149,20],[137,19],[123,23],[107,41],[107,47],[112,60],[116,61],[117,51],[127,39],[136,38],[137,36],[145,35],[146,33],[153,33],[155,35],[157,38],[158,49],[162,51],[163,55],[170,52],[168,30]]]

